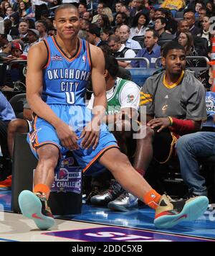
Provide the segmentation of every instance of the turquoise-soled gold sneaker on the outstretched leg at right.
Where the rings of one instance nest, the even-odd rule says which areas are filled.
[[[173,201],[163,195],[156,209],[154,224],[159,229],[170,229],[181,221],[195,221],[201,217],[209,206],[206,196],[188,200]]]

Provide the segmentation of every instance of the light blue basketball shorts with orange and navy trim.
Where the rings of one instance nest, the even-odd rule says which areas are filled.
[[[91,111],[85,106],[67,106],[59,104],[49,106],[60,119],[72,127],[77,137],[80,137],[83,127],[92,120]],[[62,156],[65,156],[69,151],[65,147],[62,147],[54,127],[44,119],[39,118],[39,116],[34,116],[27,142],[29,142],[32,152],[37,158],[37,149],[44,145],[55,145],[59,148],[59,152]],[[78,140],[77,144],[80,146],[81,142],[82,139]],[[88,150],[80,147],[79,150],[73,150],[72,153],[85,175],[96,175],[105,170],[98,160],[107,150],[114,147],[118,148],[115,137],[108,132],[108,127],[102,124],[100,127],[100,140],[95,150],[92,150],[92,147]]]

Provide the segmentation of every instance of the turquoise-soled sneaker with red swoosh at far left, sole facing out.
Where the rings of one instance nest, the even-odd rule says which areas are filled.
[[[47,198],[42,193],[22,191],[19,194],[19,207],[22,214],[33,219],[39,229],[47,230],[54,226],[54,217],[47,206]]]

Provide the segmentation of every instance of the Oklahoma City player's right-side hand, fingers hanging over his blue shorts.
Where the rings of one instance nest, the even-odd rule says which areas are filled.
[[[82,148],[88,150],[92,147],[92,150],[95,150],[100,140],[100,122],[97,119],[92,119],[92,122],[86,125],[80,136],[80,139],[82,138]]]

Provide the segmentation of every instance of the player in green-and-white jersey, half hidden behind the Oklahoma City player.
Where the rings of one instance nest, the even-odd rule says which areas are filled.
[[[131,119],[138,119],[140,88],[132,81],[118,78],[117,73],[117,60],[113,56],[106,56],[105,80],[108,106],[103,121],[108,125],[110,132],[113,132],[115,138],[118,140],[120,150],[126,154],[128,152],[126,139],[133,134],[133,127],[131,127],[130,121]],[[88,108],[92,109],[93,101],[94,96],[92,94]],[[100,183],[104,184],[105,177],[105,175],[102,175],[101,178],[95,178],[93,184],[101,186]],[[95,196],[92,193],[92,197],[90,198],[91,203],[108,205],[110,209],[117,209],[119,211],[127,211],[138,205],[138,198],[123,190],[115,180],[110,181],[108,190],[111,193],[106,193],[106,190],[100,191],[101,193],[95,191]]]

